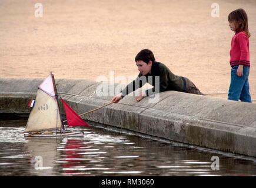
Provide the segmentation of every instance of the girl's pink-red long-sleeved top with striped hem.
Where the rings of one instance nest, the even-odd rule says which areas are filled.
[[[244,31],[236,32],[232,38],[230,65],[250,66],[249,39]]]

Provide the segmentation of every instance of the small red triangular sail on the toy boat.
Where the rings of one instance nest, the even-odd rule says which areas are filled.
[[[70,107],[63,99],[61,99],[64,105],[64,109],[66,112],[68,126],[88,126],[84,120]]]

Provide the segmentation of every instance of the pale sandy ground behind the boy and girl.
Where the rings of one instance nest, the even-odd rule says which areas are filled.
[[[0,78],[91,79],[137,76],[134,58],[144,48],[172,72],[209,96],[227,98],[230,43],[228,14],[249,18],[250,92],[256,100],[256,1],[108,0],[0,1]],[[220,17],[211,16],[213,3]],[[110,79],[110,78],[109,78]],[[115,80],[117,82],[118,80]]]

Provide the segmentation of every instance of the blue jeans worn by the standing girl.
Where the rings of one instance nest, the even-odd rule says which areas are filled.
[[[250,66],[244,66],[242,76],[237,76],[238,66],[231,68],[231,82],[228,90],[229,100],[241,100],[242,102],[251,102],[250,87],[249,87],[249,72]]]

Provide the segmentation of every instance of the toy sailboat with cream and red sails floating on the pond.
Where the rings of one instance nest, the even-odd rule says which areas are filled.
[[[89,126],[63,99],[59,101],[54,75],[50,72],[49,76],[39,85],[36,99],[29,103],[33,109],[28,117],[24,136],[83,136],[84,133],[81,131],[72,132],[65,129],[59,112],[59,102],[62,102],[64,106],[67,126]]]

